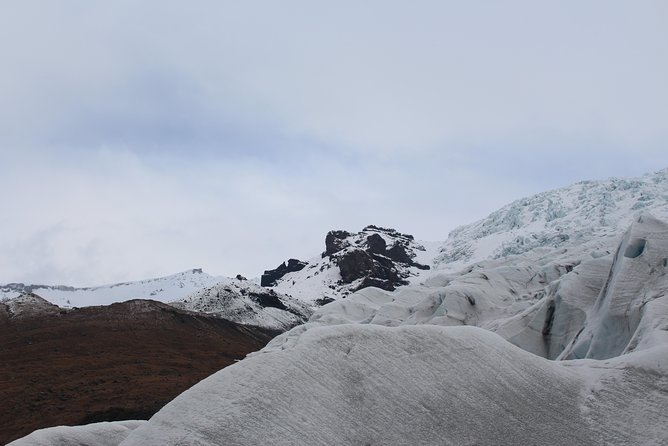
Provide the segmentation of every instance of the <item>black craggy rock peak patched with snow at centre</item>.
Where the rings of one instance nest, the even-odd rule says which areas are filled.
[[[275,279],[276,270],[267,271],[272,280],[265,283],[278,292],[322,305],[370,286],[394,290],[409,284],[430,268],[421,263],[433,259],[433,253],[426,252],[425,245],[412,235],[394,229],[370,225],[358,233],[330,231],[321,256],[299,263],[293,259],[293,271]],[[281,272],[284,270],[287,268]]]

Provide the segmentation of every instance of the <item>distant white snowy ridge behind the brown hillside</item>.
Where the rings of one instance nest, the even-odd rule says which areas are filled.
[[[0,300],[31,292],[64,308],[109,305],[130,299],[169,302],[185,297],[201,288],[213,286],[223,279],[210,276],[201,269],[192,269],[156,279],[89,288],[8,284],[0,285]]]

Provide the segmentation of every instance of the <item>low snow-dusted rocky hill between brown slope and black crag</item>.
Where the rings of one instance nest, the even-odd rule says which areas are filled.
[[[313,311],[304,302],[243,279],[221,280],[169,304],[281,331],[306,322]]]

